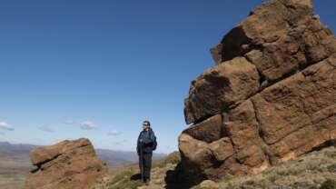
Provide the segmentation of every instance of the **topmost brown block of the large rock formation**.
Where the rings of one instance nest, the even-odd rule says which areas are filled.
[[[225,35],[212,50],[217,62],[245,56],[274,83],[336,52],[331,31],[313,15],[310,0],[273,0]],[[222,51],[221,51],[222,50]]]

